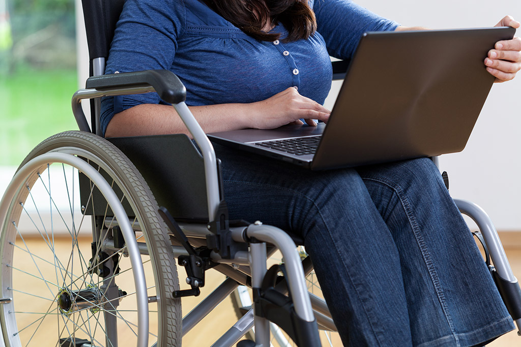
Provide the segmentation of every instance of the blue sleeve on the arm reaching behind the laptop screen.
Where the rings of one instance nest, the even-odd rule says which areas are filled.
[[[391,31],[398,23],[375,15],[350,0],[315,0],[317,32],[324,37],[330,56],[350,59],[366,31]]]

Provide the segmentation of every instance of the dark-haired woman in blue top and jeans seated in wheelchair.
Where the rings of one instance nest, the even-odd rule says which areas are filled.
[[[205,132],[314,126],[330,113],[329,55],[349,59],[365,31],[409,29],[348,0],[127,0],[107,73],[175,72]],[[485,65],[510,80],[520,50],[499,42]],[[155,94],[102,105],[106,136],[187,133]],[[215,149],[230,218],[304,237],[344,345],[472,346],[513,329],[430,160],[317,173]]]

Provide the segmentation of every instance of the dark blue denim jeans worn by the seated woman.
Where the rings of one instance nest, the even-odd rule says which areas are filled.
[[[230,219],[304,238],[345,346],[472,346],[514,328],[429,159],[313,172],[215,148]]]

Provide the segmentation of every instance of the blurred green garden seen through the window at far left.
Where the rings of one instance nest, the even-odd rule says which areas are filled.
[[[74,0],[0,0],[0,166],[76,128],[77,87]]]

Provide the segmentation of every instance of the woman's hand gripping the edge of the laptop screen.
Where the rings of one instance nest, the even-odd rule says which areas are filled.
[[[506,16],[495,26],[517,29],[520,24],[511,16]],[[495,77],[495,82],[512,80],[521,70],[521,38],[496,42],[494,49],[489,50],[488,57],[485,58],[485,65],[487,71]]]

